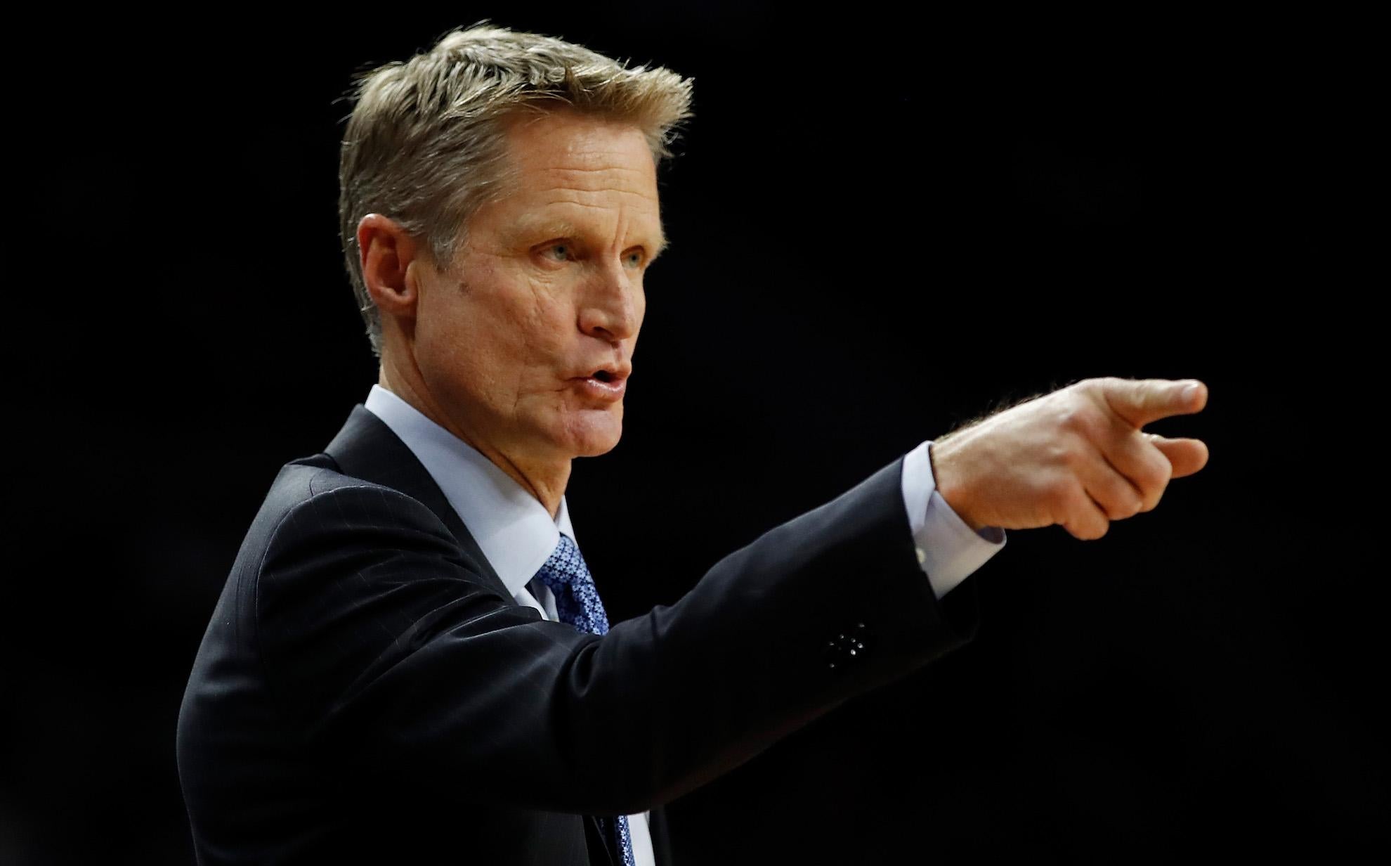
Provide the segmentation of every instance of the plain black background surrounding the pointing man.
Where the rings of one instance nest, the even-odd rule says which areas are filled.
[[[625,437],[568,491],[615,620],[1002,402],[1210,388],[1150,427],[1205,439],[1202,473],[1099,542],[1010,533],[971,578],[975,642],[672,803],[680,863],[1384,842],[1356,28],[702,10],[241,6],[6,36],[0,860],[191,862],[198,642],[278,466],[376,377],[335,100],[483,17],[696,79]]]

